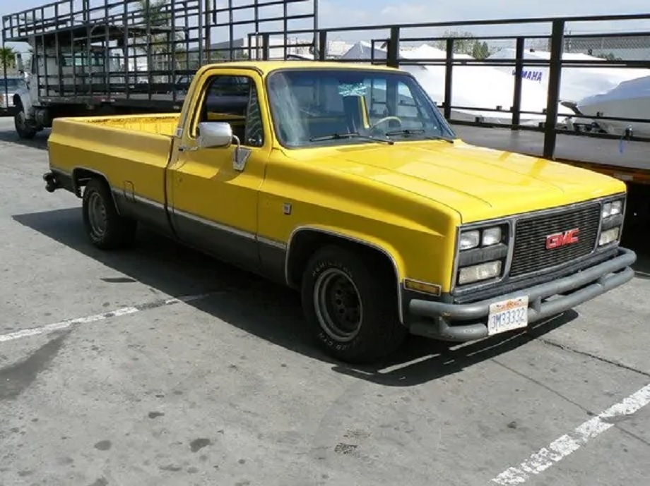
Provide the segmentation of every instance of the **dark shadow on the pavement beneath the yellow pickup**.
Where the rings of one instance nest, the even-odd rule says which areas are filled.
[[[411,387],[461,372],[465,367],[538,339],[577,317],[577,312],[565,312],[526,331],[464,346],[409,336],[405,346],[389,359],[374,365],[350,366],[319,351],[302,318],[300,298],[288,288],[147,230],[140,231],[135,248],[102,252],[87,241],[80,208],[19,214],[13,219],[155,291],[176,297],[214,292],[213,296],[188,305],[290,351],[329,363],[336,372],[384,386]]]

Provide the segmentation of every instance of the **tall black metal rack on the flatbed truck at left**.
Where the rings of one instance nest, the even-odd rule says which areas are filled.
[[[59,0],[3,16],[2,42],[30,44],[44,102],[173,109],[197,68],[246,59],[238,41],[278,23],[317,29],[317,0]]]

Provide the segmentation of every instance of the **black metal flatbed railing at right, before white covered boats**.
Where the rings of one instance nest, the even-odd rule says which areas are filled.
[[[642,31],[625,31],[615,32],[615,28],[621,30],[625,29],[626,22],[646,22],[647,28]],[[594,30],[589,33],[574,34],[567,32],[570,30],[569,26],[575,23],[584,24],[598,24],[608,22],[610,30],[607,32],[600,32]],[[538,27],[537,30],[543,30],[544,33],[530,33],[526,30],[533,30],[532,27]],[[407,32],[422,31],[432,32],[441,30],[442,28],[459,28],[468,30],[470,28],[491,28],[497,30],[493,35],[472,35],[471,37],[463,35],[408,35]],[[518,28],[521,33],[516,35],[503,35],[499,33],[504,29],[512,30]],[[638,28],[637,28],[638,29]],[[544,134],[543,156],[553,158],[555,154],[555,146],[557,135],[559,133],[590,135],[602,138],[620,138],[621,134],[608,134],[589,132],[582,130],[581,132],[572,131],[566,126],[559,126],[558,114],[561,105],[560,90],[562,87],[562,72],[567,68],[616,68],[616,69],[629,69],[629,68],[650,68],[650,13],[638,15],[611,15],[611,16],[581,16],[581,17],[567,17],[567,18],[519,18],[519,19],[503,19],[503,20],[466,20],[458,22],[439,22],[439,23],[411,23],[402,25],[363,25],[355,27],[340,27],[340,28],[326,28],[317,31],[312,30],[293,30],[291,32],[259,32],[256,34],[261,39],[262,56],[261,59],[269,59],[272,56],[270,51],[272,48],[277,49],[282,47],[282,44],[272,44],[273,38],[278,35],[293,35],[305,36],[305,42],[317,39],[315,42],[314,58],[320,61],[343,61],[352,63],[380,63],[392,67],[406,67],[406,66],[444,66],[444,96],[439,107],[449,121],[452,123],[471,124],[478,126],[497,126],[503,128],[511,128],[512,130],[538,130]],[[366,41],[371,44],[370,55],[367,57],[356,57],[353,59],[338,59],[336,56],[330,56],[327,51],[328,42],[332,37],[360,37],[367,36]],[[576,43],[580,40],[593,39],[598,40],[612,40],[618,38],[644,38],[648,40],[646,52],[646,59],[563,59],[565,52],[571,51],[572,42]],[[458,59],[454,54],[456,53],[456,45],[463,40],[473,41],[501,41],[509,42],[510,45],[514,44],[514,59]],[[550,59],[526,59],[526,44],[531,41],[536,41],[545,49],[550,51]],[[435,59],[425,58],[403,58],[400,55],[401,48],[406,44],[413,44],[413,42],[438,44],[442,46],[444,56]],[[584,42],[583,42],[584,44]],[[380,47],[378,47],[380,46]],[[377,56],[377,51],[382,50],[384,54]],[[512,90],[512,103],[509,107],[503,106],[485,107],[485,106],[462,106],[455,105],[452,102],[454,95],[454,71],[456,66],[507,66],[512,68],[514,74],[514,85]],[[543,109],[540,111],[531,111],[522,109],[522,97],[524,95],[524,68],[548,68],[548,85],[546,90],[546,102]],[[649,71],[650,73],[650,71]],[[571,106],[569,104],[568,106]],[[510,114],[510,121],[507,122],[490,122],[485,123],[480,116],[477,116],[474,121],[456,120],[453,116],[454,110],[466,111],[482,111],[482,112],[499,112],[502,114]],[[543,121],[536,126],[522,123],[522,115],[540,115]],[[647,118],[625,118],[622,116],[605,116],[604,114],[594,115],[579,115],[574,114],[574,118],[579,119],[593,119],[596,123],[598,121],[621,121],[625,123],[649,123],[650,114]],[[587,127],[589,129],[590,127]],[[624,136],[628,140],[650,141],[650,138],[640,137],[634,135],[633,131],[625,132]]]

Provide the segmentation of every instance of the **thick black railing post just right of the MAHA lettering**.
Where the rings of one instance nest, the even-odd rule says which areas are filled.
[[[544,125],[544,154],[546,159],[555,157],[557,132],[557,104],[560,102],[562,85],[562,52],[565,43],[565,21],[553,20],[550,37],[550,67],[548,70],[548,98],[546,101],[546,123]]]

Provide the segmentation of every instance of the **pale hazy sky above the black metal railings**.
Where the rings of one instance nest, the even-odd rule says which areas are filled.
[[[79,1],[79,0],[76,0]],[[101,0],[94,0],[101,1]],[[235,0],[237,4],[238,0]],[[239,0],[244,1],[244,0]],[[264,0],[261,0],[264,1]],[[51,3],[52,0],[0,0],[0,14]],[[250,3],[251,0],[247,0]],[[218,1],[218,4],[224,1]],[[379,25],[388,23],[444,22],[494,18],[533,18],[552,16],[607,15],[647,13],[648,0],[319,0],[321,28],[344,25]],[[650,31],[650,20],[617,23],[571,24],[572,32]],[[276,30],[273,28],[272,30]],[[500,28],[498,33],[543,33],[544,25]],[[494,28],[474,28],[475,35],[495,35]],[[422,35],[420,32],[418,35]],[[438,35],[442,35],[440,32]],[[334,37],[334,36],[332,36]],[[349,36],[337,35],[348,40]],[[358,40],[358,39],[353,39]]]

